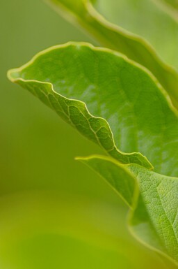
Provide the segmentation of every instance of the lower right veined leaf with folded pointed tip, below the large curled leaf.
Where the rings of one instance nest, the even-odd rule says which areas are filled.
[[[122,165],[111,157],[78,159],[102,175],[131,206],[133,235],[178,266],[178,178],[136,164]]]

